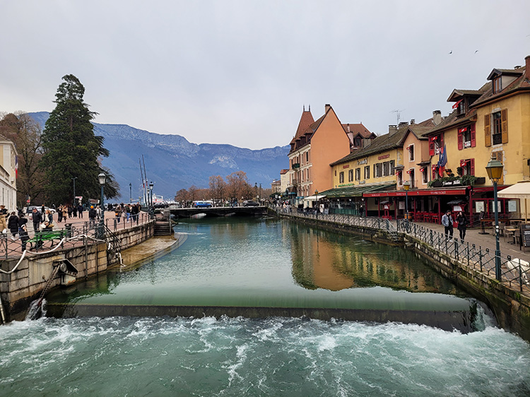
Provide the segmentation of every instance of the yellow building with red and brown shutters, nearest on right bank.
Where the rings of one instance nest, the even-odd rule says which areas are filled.
[[[454,111],[428,133],[432,179],[442,186],[471,185],[460,205],[471,220],[481,212],[493,216],[493,187],[485,171],[492,155],[504,165],[500,189],[530,179],[530,57],[525,61],[514,69],[493,69],[478,90],[453,90],[447,101],[454,102]],[[522,215],[518,200],[500,201],[501,217]],[[442,202],[443,210],[449,203],[454,200]]]

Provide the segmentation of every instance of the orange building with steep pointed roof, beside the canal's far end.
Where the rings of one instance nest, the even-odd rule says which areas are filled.
[[[288,154],[291,198],[300,203],[315,190],[331,189],[329,164],[350,153],[350,144],[350,138],[330,105],[325,106],[324,115],[316,122],[311,109],[304,109]]]

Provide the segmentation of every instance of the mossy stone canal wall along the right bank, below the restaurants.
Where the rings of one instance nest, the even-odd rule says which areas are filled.
[[[383,244],[401,245],[422,257],[436,271],[452,280],[462,290],[488,304],[495,313],[497,323],[507,331],[517,333],[530,341],[530,294],[518,290],[516,283],[500,282],[478,268],[477,263],[468,259],[444,253],[440,247],[432,247],[421,239],[397,231],[395,225],[379,218],[359,218],[353,215],[304,215],[271,211],[281,218],[295,220],[314,227],[346,232],[363,239]]]

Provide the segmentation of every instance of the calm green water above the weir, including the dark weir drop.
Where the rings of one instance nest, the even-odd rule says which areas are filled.
[[[182,247],[49,294],[49,316],[305,316],[475,331],[485,305],[397,247],[279,220],[189,220]],[[480,313],[477,316],[477,313]]]

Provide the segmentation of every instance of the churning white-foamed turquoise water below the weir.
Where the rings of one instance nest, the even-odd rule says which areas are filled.
[[[500,328],[293,318],[39,319],[0,327],[2,394],[525,396]]]

